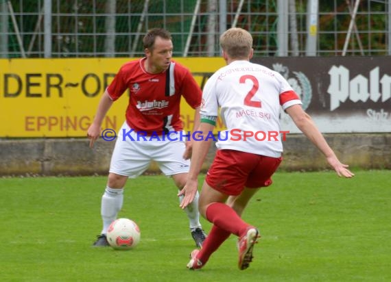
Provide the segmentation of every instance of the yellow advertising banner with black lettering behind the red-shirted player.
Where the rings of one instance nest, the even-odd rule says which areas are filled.
[[[0,60],[0,138],[82,137],[99,99],[130,58]],[[190,69],[201,87],[225,65],[220,57],[175,58]],[[109,110],[102,129],[121,127],[128,95]],[[182,99],[182,121],[193,130],[193,109]],[[223,129],[218,120],[216,132]]]

